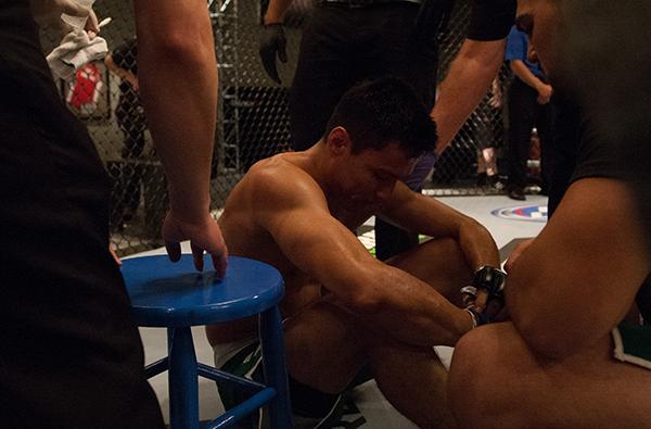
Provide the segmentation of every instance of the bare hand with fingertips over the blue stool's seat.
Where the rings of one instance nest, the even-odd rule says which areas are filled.
[[[180,242],[190,240],[190,248],[194,256],[194,266],[203,270],[204,251],[213,258],[213,266],[219,277],[226,275],[228,249],[221,237],[221,230],[217,222],[206,213],[204,219],[199,224],[180,220],[171,212],[168,212],[163,222],[163,240],[165,249],[173,262],[181,257]]]

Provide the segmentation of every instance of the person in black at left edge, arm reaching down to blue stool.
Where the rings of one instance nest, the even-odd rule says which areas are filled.
[[[169,182],[163,238],[171,260],[189,239],[197,268],[207,251],[224,275],[227,250],[208,212],[217,94],[208,12],[201,0],[135,4],[143,102]],[[63,104],[38,38],[35,20],[63,12],[94,17],[71,0],[0,3],[0,421],[163,428],[106,245],[107,175]],[[99,31],[97,18],[87,25]]]

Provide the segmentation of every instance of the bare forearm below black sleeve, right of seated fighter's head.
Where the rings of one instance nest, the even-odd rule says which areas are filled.
[[[452,62],[431,116],[436,121],[441,154],[486,94],[505,56],[505,40],[478,41],[465,39]]]

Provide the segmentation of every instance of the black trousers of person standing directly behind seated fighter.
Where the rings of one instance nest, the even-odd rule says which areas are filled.
[[[295,150],[308,149],[323,137],[341,97],[365,79],[387,75],[401,78],[413,86],[427,109],[433,106],[436,50],[421,49],[416,41],[418,10],[418,4],[407,2],[357,9],[316,7],[303,33],[290,91]],[[378,256],[386,258],[408,249],[414,239],[375,219],[375,241]]]

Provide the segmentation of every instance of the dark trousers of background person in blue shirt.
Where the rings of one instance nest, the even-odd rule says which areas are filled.
[[[509,152],[508,166],[510,189],[524,189],[526,186],[526,161],[529,155],[532,129],[536,127],[540,139],[540,175],[544,186],[548,186],[547,156],[551,138],[551,103],[538,104],[538,92],[513,78],[509,89]]]

